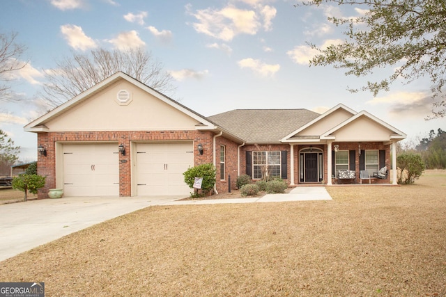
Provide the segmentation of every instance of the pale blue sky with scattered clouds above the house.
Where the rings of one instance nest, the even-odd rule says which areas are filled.
[[[0,102],[0,129],[20,145],[21,161],[37,159],[37,136],[24,125],[42,115],[35,103],[44,71],[92,49],[143,47],[174,78],[169,97],[204,116],[233,109],[309,109],[345,104],[403,131],[406,145],[446,120],[431,115],[430,82],[396,81],[387,93],[350,93],[371,77],[345,76],[331,66],[309,67],[308,42],[325,47],[343,39],[328,17],[357,17],[363,9],[296,0],[8,0],[0,2],[0,32],[17,33],[26,66],[11,75],[17,103]]]

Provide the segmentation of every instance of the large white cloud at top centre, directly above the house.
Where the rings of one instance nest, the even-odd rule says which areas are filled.
[[[224,41],[230,41],[239,34],[254,35],[261,25],[254,10],[238,9],[231,4],[222,10],[206,8],[192,13],[190,5],[186,9],[198,20],[193,24],[197,32]]]

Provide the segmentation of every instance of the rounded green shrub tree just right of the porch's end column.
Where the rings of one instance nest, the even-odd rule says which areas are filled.
[[[424,162],[420,154],[405,152],[397,156],[397,166],[401,169],[398,177],[398,184],[413,184],[415,179],[420,178],[424,172]],[[403,172],[406,173],[403,180]]]

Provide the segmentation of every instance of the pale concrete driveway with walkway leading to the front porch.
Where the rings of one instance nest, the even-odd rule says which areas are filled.
[[[86,227],[153,205],[331,200],[325,187],[297,187],[262,198],[176,201],[184,196],[75,197],[0,205],[0,261]]]

